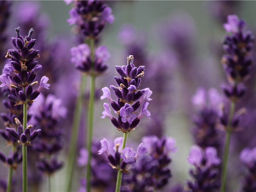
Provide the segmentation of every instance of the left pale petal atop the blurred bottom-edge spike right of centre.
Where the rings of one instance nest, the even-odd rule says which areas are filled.
[[[204,158],[204,151],[197,145],[193,145],[189,152],[188,162],[191,165],[196,165],[200,167],[202,160]]]

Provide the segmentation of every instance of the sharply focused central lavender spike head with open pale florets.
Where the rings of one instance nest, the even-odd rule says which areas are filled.
[[[117,101],[112,100],[108,87],[102,88],[103,95],[100,97],[101,100],[107,99],[118,115],[116,119],[111,114],[108,103],[104,103],[105,111],[102,112],[103,116],[101,118],[107,116],[117,130],[122,132],[130,132],[140,123],[140,119],[143,116],[148,118],[150,116],[150,112],[147,109],[149,103],[146,100],[152,100],[149,98],[152,91],[149,88],[139,89],[141,79],[145,74],[145,67],[135,67],[133,59],[133,56],[129,55],[126,66],[116,66],[116,72],[120,75],[120,77],[115,77],[118,86],[111,85],[110,88],[114,90],[118,98]],[[140,106],[141,112],[137,116],[136,111]]]

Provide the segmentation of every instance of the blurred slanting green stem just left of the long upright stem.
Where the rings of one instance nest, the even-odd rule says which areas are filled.
[[[72,186],[72,179],[74,174],[74,165],[75,165],[75,159],[76,159],[76,145],[77,145],[77,137],[78,137],[78,130],[81,120],[81,113],[83,108],[83,100],[84,100],[84,92],[85,92],[85,86],[86,86],[86,75],[82,75],[82,80],[80,84],[79,94],[76,99],[76,108],[75,113],[73,117],[73,125],[72,125],[72,136],[71,136],[71,142],[69,146],[69,154],[68,154],[68,173],[67,173],[67,191],[71,191]]]

